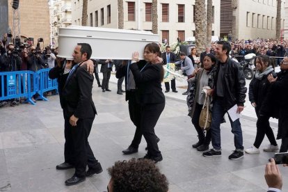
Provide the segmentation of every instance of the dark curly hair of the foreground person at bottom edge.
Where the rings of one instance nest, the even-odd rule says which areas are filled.
[[[168,180],[154,162],[143,159],[117,161],[108,168],[113,181],[113,192],[167,192]]]

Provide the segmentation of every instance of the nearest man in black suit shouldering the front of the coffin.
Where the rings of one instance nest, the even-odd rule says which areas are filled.
[[[86,177],[102,172],[101,164],[95,159],[88,143],[88,136],[97,112],[92,99],[93,74],[89,74],[86,66],[81,63],[87,61],[91,54],[90,45],[77,44],[73,53],[74,65],[63,88],[63,113],[65,125],[70,126],[69,142],[74,146],[75,161],[75,173],[65,181],[66,185],[78,184],[85,181]]]

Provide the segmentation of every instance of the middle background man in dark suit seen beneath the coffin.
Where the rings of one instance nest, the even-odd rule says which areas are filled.
[[[111,77],[113,61],[111,59],[106,60],[100,59],[99,63],[101,64],[100,72],[103,73],[102,92],[111,91],[109,89],[109,79]]]

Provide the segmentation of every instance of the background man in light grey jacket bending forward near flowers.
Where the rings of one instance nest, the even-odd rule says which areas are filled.
[[[175,63],[175,65],[181,64],[181,70],[182,70],[183,74],[187,75],[187,80],[188,80],[192,77],[192,74],[194,71],[193,63],[191,61],[191,58],[186,56],[186,54],[184,52],[180,53],[180,58],[181,58],[181,61],[177,61]],[[191,83],[189,83],[189,81],[187,81],[187,83],[188,83],[188,88],[187,88],[186,92],[182,93],[183,95],[188,95],[189,90],[191,88]]]

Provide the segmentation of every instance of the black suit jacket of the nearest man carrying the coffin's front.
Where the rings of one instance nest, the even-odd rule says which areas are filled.
[[[77,67],[67,78],[63,88],[63,111],[66,117],[94,118],[97,111],[92,99],[93,74],[89,74],[86,65]]]

